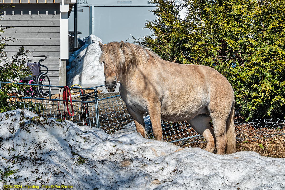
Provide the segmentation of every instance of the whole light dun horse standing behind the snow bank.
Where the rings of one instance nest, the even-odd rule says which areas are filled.
[[[144,112],[148,112],[156,140],[162,140],[160,119],[186,120],[207,140],[205,150],[218,154],[236,152],[234,92],[227,79],[213,68],[162,60],[148,48],[119,42],[99,42],[105,86],[120,93],[144,138]],[[214,130],[209,122],[212,120]]]

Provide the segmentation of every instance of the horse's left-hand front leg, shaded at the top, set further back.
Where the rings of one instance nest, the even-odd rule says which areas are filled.
[[[144,125],[143,113],[138,113],[128,106],[127,110],[135,122],[137,132],[141,133],[144,138],[148,139]]]

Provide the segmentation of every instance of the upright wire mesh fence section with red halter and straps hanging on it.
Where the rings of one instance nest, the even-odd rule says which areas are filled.
[[[1,82],[3,83],[3,82]],[[26,86],[33,86],[32,84],[21,84]],[[47,86],[49,87],[49,86]],[[58,88],[58,92],[62,87],[50,86],[53,89]],[[61,120],[70,120],[80,126],[88,125],[97,127],[97,89],[77,88],[72,87],[73,91],[77,91],[72,95],[72,100],[63,99],[62,95],[51,95],[46,98],[29,97],[27,95],[21,96],[17,92],[13,94],[9,101],[11,108],[27,109],[40,117],[56,118]],[[93,96],[86,99],[86,94],[80,95],[80,89],[83,91],[89,90],[93,92]]]

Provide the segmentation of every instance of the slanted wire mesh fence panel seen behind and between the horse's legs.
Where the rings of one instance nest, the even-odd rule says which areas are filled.
[[[136,130],[135,123],[120,95],[98,99],[98,106],[100,128],[105,132],[114,134]],[[144,114],[144,123],[148,137],[153,138],[152,125],[148,113]],[[163,138],[168,142],[176,142],[198,135],[187,122],[167,122],[161,120],[161,125]]]

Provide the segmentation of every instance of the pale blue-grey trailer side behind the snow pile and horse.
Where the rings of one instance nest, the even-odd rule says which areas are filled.
[[[82,32],[78,36],[84,38],[94,34],[108,43],[150,35],[150,30],[144,27],[146,20],[156,19],[150,12],[154,8],[155,5],[147,0],[78,0],[78,31]],[[68,27],[74,31],[74,9]]]

